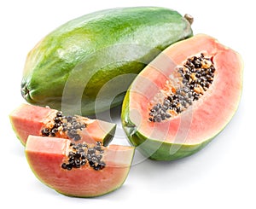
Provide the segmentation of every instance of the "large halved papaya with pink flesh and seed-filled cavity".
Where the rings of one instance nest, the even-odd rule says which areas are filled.
[[[153,160],[177,160],[211,142],[236,113],[243,63],[205,34],[165,49],[131,84],[122,107],[130,142]]]

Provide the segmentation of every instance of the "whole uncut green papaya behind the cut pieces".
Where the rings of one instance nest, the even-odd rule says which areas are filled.
[[[172,9],[107,9],[50,32],[26,58],[27,102],[69,113],[101,113],[123,101],[132,80],[170,44],[192,36]]]

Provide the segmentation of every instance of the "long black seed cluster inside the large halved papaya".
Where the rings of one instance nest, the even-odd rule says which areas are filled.
[[[161,122],[182,113],[207,91],[212,84],[214,72],[212,59],[202,53],[189,58],[183,67],[177,67],[181,87],[172,87],[162,102],[149,109],[149,121]]]

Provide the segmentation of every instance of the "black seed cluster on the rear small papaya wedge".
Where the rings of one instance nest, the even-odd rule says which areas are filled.
[[[50,123],[50,128],[44,128],[41,133],[43,136],[56,136],[57,133],[65,134],[69,139],[73,139],[75,142],[81,139],[78,131],[82,131],[86,125],[79,121],[76,116],[65,116],[60,111],[56,113],[53,119],[53,124]]]

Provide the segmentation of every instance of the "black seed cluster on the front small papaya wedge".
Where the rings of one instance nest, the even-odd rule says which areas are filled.
[[[71,142],[68,159],[61,164],[61,168],[70,171],[73,168],[80,168],[88,162],[90,167],[100,171],[106,166],[105,162],[102,161],[103,153],[101,142],[96,142],[96,146],[91,148],[85,142],[78,144]]]

